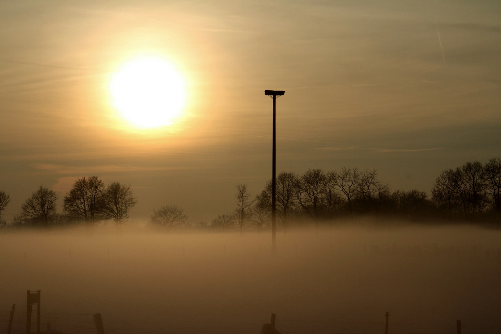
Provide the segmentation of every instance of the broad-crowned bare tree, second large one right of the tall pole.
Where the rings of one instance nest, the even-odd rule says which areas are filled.
[[[321,209],[324,181],[325,173],[321,169],[309,169],[296,178],[296,201],[315,221]]]

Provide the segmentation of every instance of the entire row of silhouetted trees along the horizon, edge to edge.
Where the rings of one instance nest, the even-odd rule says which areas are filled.
[[[277,221],[284,231],[292,225],[329,223],[362,215],[493,222],[496,227],[500,224],[501,159],[498,157],[484,164],[473,161],[455,169],[443,169],[433,182],[431,196],[417,189],[392,191],[388,182],[378,178],[375,169],[309,169],[303,174],[284,171],[276,181]],[[242,233],[246,228],[261,231],[271,224],[271,180],[256,196],[246,184],[236,185],[234,200],[233,211],[218,215],[210,223],[198,222],[195,227],[236,229]],[[10,195],[0,191],[0,215],[9,201]],[[130,185],[114,182],[105,186],[98,176],[89,176],[76,180],[65,195],[63,213],[57,213],[56,203],[56,192],[40,186],[22,205],[14,225],[69,222],[93,225],[103,220],[122,225],[137,199]],[[187,219],[184,210],[175,205],[164,205],[150,216],[151,223],[167,230],[188,226]]]

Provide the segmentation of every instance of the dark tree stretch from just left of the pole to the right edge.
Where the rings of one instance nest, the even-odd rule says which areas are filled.
[[[454,219],[495,222],[501,214],[501,159],[467,162],[445,168],[433,182],[431,196],[417,189],[392,191],[377,171],[341,168],[281,172],[276,180],[277,221],[284,231],[305,222],[332,222],[361,215],[405,219]],[[259,230],[270,225],[272,181],[255,197],[245,184],[236,186],[235,209],[199,227]]]

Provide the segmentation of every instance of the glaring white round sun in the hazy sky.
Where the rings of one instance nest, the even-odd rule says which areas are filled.
[[[139,57],[113,75],[111,96],[122,116],[142,128],[171,124],[181,114],[186,84],[176,68],[159,57]]]

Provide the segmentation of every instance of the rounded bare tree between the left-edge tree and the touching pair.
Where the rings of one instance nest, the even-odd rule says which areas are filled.
[[[23,219],[48,226],[56,214],[58,196],[54,190],[40,186],[21,206]]]

